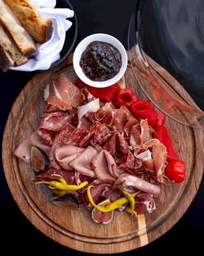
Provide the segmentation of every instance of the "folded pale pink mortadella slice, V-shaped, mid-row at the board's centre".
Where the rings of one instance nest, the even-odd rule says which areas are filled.
[[[98,154],[98,151],[94,147],[89,146],[69,165],[77,172],[96,177],[94,171],[91,170],[91,161],[96,154]]]

